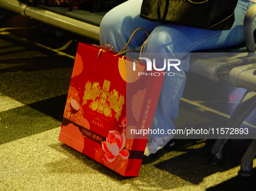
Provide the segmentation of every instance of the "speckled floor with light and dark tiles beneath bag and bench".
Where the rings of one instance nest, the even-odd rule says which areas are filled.
[[[255,176],[237,176],[248,140],[228,141],[222,166],[208,163],[214,140],[180,140],[177,150],[143,165],[136,178],[59,142],[77,43],[97,42],[66,32],[65,38],[42,35],[41,27],[15,17],[0,28],[0,190],[255,190]],[[244,92],[189,74],[175,123],[222,126]],[[255,127],[254,116],[243,125]]]

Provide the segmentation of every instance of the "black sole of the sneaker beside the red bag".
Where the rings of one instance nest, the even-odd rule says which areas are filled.
[[[149,156],[144,155],[142,164],[152,163],[162,157],[165,153],[169,153],[176,147],[176,140],[172,139],[162,149],[159,149],[156,153],[152,153]]]

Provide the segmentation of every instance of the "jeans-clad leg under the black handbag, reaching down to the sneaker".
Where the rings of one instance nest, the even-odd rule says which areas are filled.
[[[144,56],[153,59],[152,56],[157,55],[159,63],[163,63],[165,58],[181,60],[181,71],[173,71],[174,76],[165,76],[152,125],[152,129],[164,129],[166,134],[152,136],[166,136],[168,129],[175,128],[173,120],[178,117],[179,101],[185,87],[185,73],[189,69],[189,53],[242,43],[243,19],[252,4],[247,0],[239,0],[235,10],[236,20],[230,30],[211,31],[179,25],[158,25],[152,31],[143,50]]]

